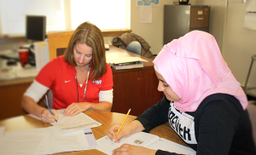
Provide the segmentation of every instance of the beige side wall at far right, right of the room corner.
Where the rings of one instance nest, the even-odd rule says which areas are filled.
[[[224,60],[241,85],[245,84],[252,55],[256,54],[256,31],[243,29],[246,3],[229,3]],[[254,62],[255,63],[255,62]],[[248,85],[256,86],[256,69],[253,66]],[[253,72],[254,71],[254,72]]]

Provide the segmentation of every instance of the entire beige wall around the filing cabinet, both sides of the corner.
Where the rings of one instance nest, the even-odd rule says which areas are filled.
[[[245,84],[251,56],[255,55],[256,31],[242,28],[246,3],[229,3],[229,0],[190,0],[192,5],[211,5],[210,30],[216,38],[224,60],[241,85]],[[160,0],[160,7],[153,8],[151,24],[139,22],[140,9],[135,0],[131,0],[131,30],[143,37],[151,46],[151,52],[158,54],[163,46],[163,13],[165,4],[173,0]],[[256,62],[255,66],[256,67]],[[254,68],[253,68],[254,69]],[[254,69],[255,70],[255,69]],[[248,82],[256,86],[256,70],[251,73]]]

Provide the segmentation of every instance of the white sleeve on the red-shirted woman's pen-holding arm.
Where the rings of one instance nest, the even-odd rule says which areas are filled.
[[[49,88],[45,87],[43,84],[38,83],[36,80],[30,85],[24,95],[31,97],[33,100],[38,102],[42,96],[46,93]]]

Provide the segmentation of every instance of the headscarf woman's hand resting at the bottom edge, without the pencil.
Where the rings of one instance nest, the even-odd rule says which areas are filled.
[[[154,155],[156,150],[152,150],[143,146],[132,146],[130,144],[123,144],[119,148],[116,148],[113,150],[113,155],[134,155],[134,154],[140,154],[140,155]]]

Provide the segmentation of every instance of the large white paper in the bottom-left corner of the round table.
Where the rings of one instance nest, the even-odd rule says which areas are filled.
[[[98,148],[91,129],[63,134],[55,127],[5,132],[0,154],[34,155]]]

